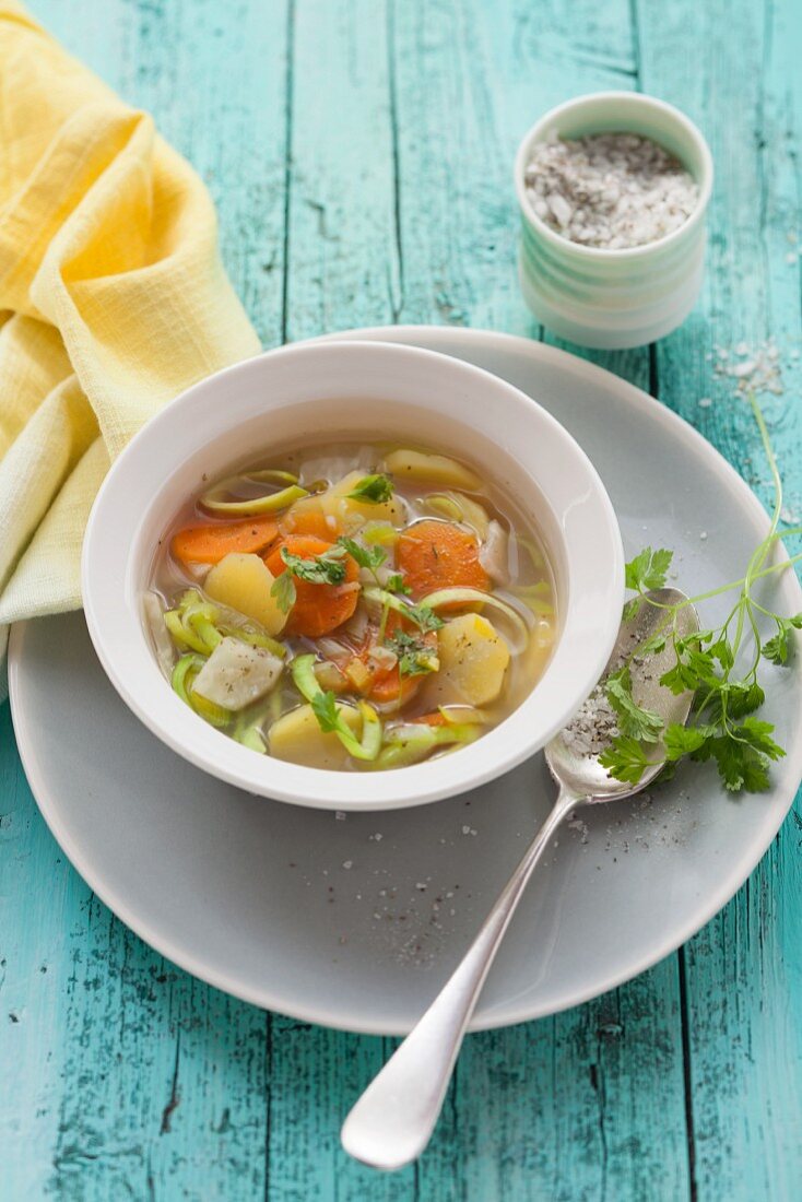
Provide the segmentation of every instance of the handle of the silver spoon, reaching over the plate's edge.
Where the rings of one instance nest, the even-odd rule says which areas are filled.
[[[560,787],[554,808],[458,968],[346,1118],[343,1147],[357,1160],[375,1168],[400,1168],[426,1148],[465,1028],[516,906],[554,831],[584,799]]]

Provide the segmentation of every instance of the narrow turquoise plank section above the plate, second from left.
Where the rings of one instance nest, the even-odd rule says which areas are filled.
[[[387,325],[399,307],[387,18],[375,0],[297,0],[286,333]]]

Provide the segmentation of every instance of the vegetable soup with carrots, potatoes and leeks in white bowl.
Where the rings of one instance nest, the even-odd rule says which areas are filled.
[[[341,442],[204,484],[144,615],[198,720],[260,755],[375,770],[503,721],[548,662],[554,596],[535,530],[480,470]]]

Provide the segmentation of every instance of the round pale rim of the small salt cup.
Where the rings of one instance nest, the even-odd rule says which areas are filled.
[[[607,100],[626,101],[626,103],[632,108],[637,107],[657,111],[670,118],[695,143],[702,163],[701,179],[696,180],[699,184],[699,200],[696,201],[696,208],[694,212],[685,219],[685,221],[683,221],[681,226],[672,230],[671,233],[665,234],[663,238],[657,238],[654,242],[647,242],[642,246],[618,246],[607,249],[605,246],[586,246],[583,243],[571,242],[570,238],[563,238],[537,216],[529,203],[529,197],[527,196],[527,188],[524,184],[527,157],[534,143],[541,141],[543,132],[566,113],[577,108],[592,108],[594,103]],[[626,130],[623,130],[622,132],[626,132]],[[589,91],[582,96],[574,96],[571,100],[566,100],[562,105],[557,105],[554,108],[549,108],[548,112],[543,113],[543,115],[527,130],[518,143],[518,149],[516,151],[513,183],[518,207],[521,208],[521,215],[533,227],[533,230],[537,232],[537,236],[542,237],[543,240],[556,250],[559,250],[562,254],[575,256],[576,258],[584,258],[587,261],[595,260],[596,262],[605,263],[626,262],[644,258],[648,255],[671,248],[681,238],[687,238],[688,234],[690,234],[693,230],[695,230],[696,226],[705,220],[707,206],[713,192],[713,155],[711,154],[707,139],[699,126],[691,121],[690,117],[687,117],[682,109],[677,108],[675,105],[670,105],[666,100],[659,100],[657,96],[649,96],[643,91],[624,91],[616,89],[610,91]]]

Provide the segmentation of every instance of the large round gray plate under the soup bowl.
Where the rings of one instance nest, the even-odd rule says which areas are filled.
[[[738,577],[766,529],[747,486],[690,427],[583,361],[475,331],[358,337],[445,351],[529,392],[594,460],[628,553],[644,542],[673,547],[687,591]],[[790,573],[770,595],[783,612],[802,609]],[[703,615],[723,608],[711,602]],[[707,768],[693,767],[650,799],[583,814],[537,869],[474,1028],[536,1018],[618,984],[735,893],[802,772],[800,668],[773,674],[767,716],[789,755],[772,792],[733,803]],[[139,725],[106,680],[79,614],[17,626],[10,683],[40,808],[103,902],[198,977],[332,1027],[410,1028],[553,797],[541,756],[415,810],[337,820],[250,797]]]

